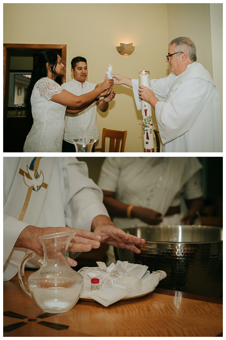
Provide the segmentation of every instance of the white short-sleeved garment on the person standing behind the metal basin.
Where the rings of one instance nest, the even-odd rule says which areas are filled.
[[[162,214],[161,224],[180,224],[181,214],[166,216],[169,207],[180,206],[184,199],[202,197],[196,157],[106,157],[98,185],[115,192],[123,203],[145,207]],[[114,218],[120,229],[147,226],[138,218]]]

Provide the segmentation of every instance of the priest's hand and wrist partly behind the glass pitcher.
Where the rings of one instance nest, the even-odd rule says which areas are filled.
[[[39,228],[33,225],[28,225],[20,233],[15,247],[27,248],[37,254],[43,256],[43,247],[39,239],[40,236],[55,234],[61,232],[75,231],[76,235],[70,240],[68,250],[71,252],[88,252],[92,248],[99,248],[101,237],[94,233],[82,229],[71,229],[68,227],[44,227]],[[67,258],[71,267],[77,266],[77,262],[71,258]]]

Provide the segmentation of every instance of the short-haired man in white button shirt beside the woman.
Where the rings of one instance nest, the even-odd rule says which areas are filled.
[[[95,87],[98,86],[86,81],[88,68],[87,61],[83,57],[78,56],[71,60],[71,73],[74,75],[73,80],[62,84],[61,87],[76,96],[81,96],[93,91]],[[67,106],[62,152],[75,152],[75,146],[72,141],[75,136],[86,135],[98,140],[96,104],[100,111],[105,112],[108,109],[108,103],[114,98],[115,91],[112,91],[104,98],[97,98],[93,102],[89,103],[88,106],[86,105],[80,110],[75,110],[75,108]],[[94,147],[95,144],[92,152],[94,152]]]

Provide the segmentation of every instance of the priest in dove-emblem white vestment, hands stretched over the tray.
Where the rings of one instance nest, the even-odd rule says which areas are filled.
[[[76,157],[3,157],[3,184],[4,280],[18,272],[26,253],[43,252],[41,235],[77,229],[68,248],[72,252],[98,248],[100,242],[140,252],[133,244],[145,243],[119,234],[102,203],[101,189]]]

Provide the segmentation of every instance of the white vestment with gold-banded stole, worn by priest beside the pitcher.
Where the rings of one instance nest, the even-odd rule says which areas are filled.
[[[67,226],[90,231],[94,217],[108,216],[102,203],[103,193],[93,180],[88,178],[86,163],[79,162],[76,157],[42,157],[38,174],[40,175],[40,171],[43,172],[47,189],[39,187],[37,192],[32,190],[23,221],[19,221],[21,207],[28,190],[28,186],[24,183],[24,176],[19,170],[22,167],[22,170],[27,172],[26,162],[28,167],[32,168],[35,158],[4,157],[3,159],[4,280],[10,280],[17,273],[21,259],[26,252],[30,252],[24,248],[14,248],[18,236],[27,225]],[[47,179],[48,169],[51,171],[49,179]],[[44,198],[41,197],[39,203],[40,194],[44,195]],[[37,210],[39,210],[38,215]],[[34,211],[36,218],[33,218]]]

